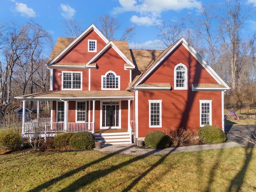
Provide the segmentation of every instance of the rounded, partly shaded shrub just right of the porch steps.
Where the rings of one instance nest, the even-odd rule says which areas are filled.
[[[162,149],[169,146],[170,138],[161,131],[153,131],[146,135],[144,142],[153,149]]]

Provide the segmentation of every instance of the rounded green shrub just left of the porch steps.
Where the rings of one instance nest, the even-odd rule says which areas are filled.
[[[90,132],[77,132],[70,138],[69,143],[74,149],[92,149],[95,146],[95,137]]]

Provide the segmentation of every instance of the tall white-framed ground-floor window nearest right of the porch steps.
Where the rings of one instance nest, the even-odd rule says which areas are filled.
[[[149,127],[162,127],[162,100],[148,100]]]

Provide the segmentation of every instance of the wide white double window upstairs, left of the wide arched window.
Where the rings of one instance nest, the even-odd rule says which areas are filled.
[[[62,90],[82,90],[82,72],[62,72]]]

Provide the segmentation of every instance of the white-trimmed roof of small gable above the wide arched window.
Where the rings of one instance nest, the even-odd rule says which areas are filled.
[[[119,45],[120,45],[120,44],[121,44],[121,43],[119,42]],[[122,43],[123,46],[124,46],[125,44],[126,44],[125,42]],[[127,45],[128,45],[128,43],[127,43]],[[110,47],[112,47],[112,48],[119,54],[119,56],[122,57],[122,59],[126,62],[126,63],[124,63],[124,68],[125,68],[125,69],[134,69],[134,68],[135,68],[134,64],[127,58],[127,56],[126,56],[123,52],[121,52],[120,49],[118,49],[118,47],[114,44],[113,41],[108,42],[108,44],[106,44],[106,46],[104,46],[104,48],[102,48],[102,50],[100,50],[100,51],[99,51],[90,61],[88,61],[84,66],[85,66],[85,67],[90,67],[90,68],[96,67],[96,65],[95,65],[96,60],[97,60],[108,48],[110,48]],[[129,49],[128,49],[128,50],[129,50]],[[127,52],[127,51],[126,51],[125,53],[128,55],[128,52]],[[131,56],[130,56],[130,58],[131,58]]]

